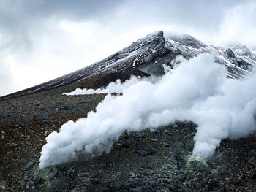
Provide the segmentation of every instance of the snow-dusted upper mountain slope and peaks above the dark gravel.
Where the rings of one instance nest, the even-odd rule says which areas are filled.
[[[244,78],[246,74],[251,73],[252,66],[256,64],[256,55],[244,45],[214,47],[213,45],[206,45],[189,35],[164,37],[162,31],[157,31],[138,39],[129,47],[91,66],[86,66],[83,69],[32,88],[0,97],[0,99],[46,91],[73,82],[88,80],[101,74],[130,73],[132,70],[140,70],[147,74],[161,75],[164,73],[163,66],[171,66],[172,61],[178,55],[189,59],[201,53],[214,53],[215,60],[219,64],[227,66],[229,72],[227,76],[231,78]]]

